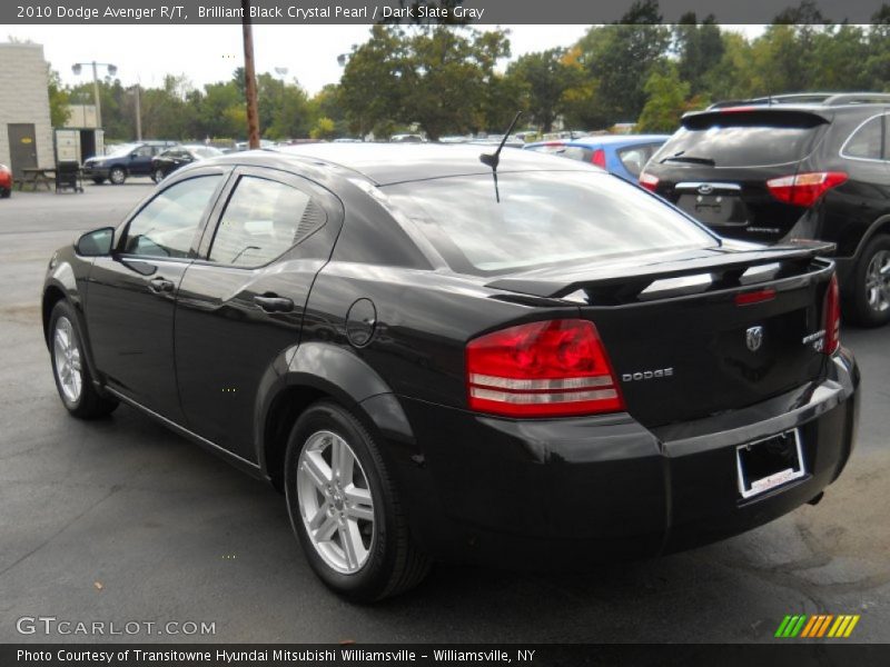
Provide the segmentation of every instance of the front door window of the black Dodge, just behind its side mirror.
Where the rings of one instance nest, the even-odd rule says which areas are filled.
[[[176,183],[148,202],[127,226],[123,252],[141,257],[185,258],[221,176]]]

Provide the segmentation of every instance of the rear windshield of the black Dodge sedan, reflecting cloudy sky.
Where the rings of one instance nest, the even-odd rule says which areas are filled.
[[[383,188],[459,272],[702,248],[718,241],[656,197],[599,170],[498,172]]]

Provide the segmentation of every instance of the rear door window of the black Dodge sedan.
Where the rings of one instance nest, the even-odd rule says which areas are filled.
[[[324,223],[324,209],[301,190],[244,176],[219,221],[208,259],[229,266],[260,267]]]

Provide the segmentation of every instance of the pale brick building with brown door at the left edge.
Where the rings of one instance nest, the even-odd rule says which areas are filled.
[[[0,43],[0,163],[16,178],[27,167],[55,167],[43,47]]]

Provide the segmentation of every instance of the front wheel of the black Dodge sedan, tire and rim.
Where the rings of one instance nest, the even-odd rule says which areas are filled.
[[[105,398],[96,390],[83,352],[77,313],[68,301],[59,301],[52,308],[49,337],[52,377],[65,408],[81,419],[110,415],[118,401]]]

